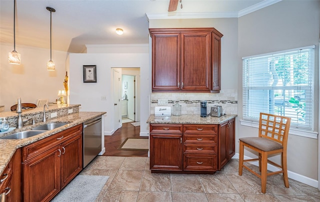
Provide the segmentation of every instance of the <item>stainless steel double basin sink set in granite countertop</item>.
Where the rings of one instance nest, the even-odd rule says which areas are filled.
[[[40,133],[44,133],[46,131],[49,130],[53,130],[55,128],[64,126],[68,123],[48,123],[48,124],[44,124],[41,126],[37,126],[34,128],[31,128],[31,130],[27,130],[27,131],[21,131],[21,132],[16,132],[7,136],[3,136],[0,139],[23,139],[23,138],[29,138],[35,135],[38,135]]]

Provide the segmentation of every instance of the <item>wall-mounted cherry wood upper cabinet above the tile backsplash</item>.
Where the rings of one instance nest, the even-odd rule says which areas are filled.
[[[219,92],[220,38],[214,28],[150,28],[152,92]]]

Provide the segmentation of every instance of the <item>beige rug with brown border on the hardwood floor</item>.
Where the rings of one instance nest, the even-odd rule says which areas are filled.
[[[148,151],[149,140],[141,138],[126,138],[118,150]]]

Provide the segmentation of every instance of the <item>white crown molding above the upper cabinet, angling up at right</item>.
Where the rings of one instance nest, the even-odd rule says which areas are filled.
[[[199,18],[229,18],[241,17],[250,12],[277,3],[281,0],[264,0],[242,9],[238,12],[170,12],[170,13],[145,13],[147,20],[150,19],[199,19]]]

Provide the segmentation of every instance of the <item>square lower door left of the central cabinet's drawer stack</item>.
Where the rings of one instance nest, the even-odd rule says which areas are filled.
[[[150,169],[182,171],[182,135],[150,135]]]

